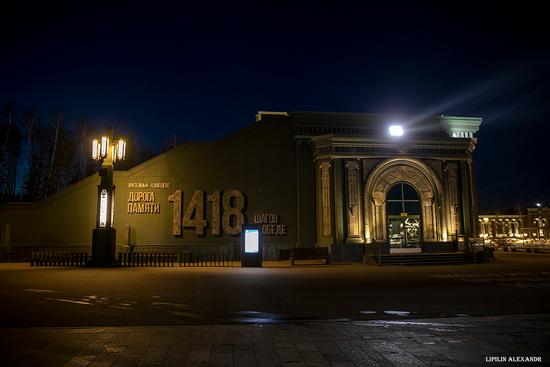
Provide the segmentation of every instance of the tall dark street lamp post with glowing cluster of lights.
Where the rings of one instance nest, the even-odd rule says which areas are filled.
[[[115,258],[116,231],[113,228],[115,209],[115,185],[113,184],[113,163],[123,160],[126,155],[126,142],[113,141],[113,129],[108,127],[106,134],[92,142],[92,158],[101,162],[97,186],[96,227],[92,234],[92,260],[88,266],[118,266]]]

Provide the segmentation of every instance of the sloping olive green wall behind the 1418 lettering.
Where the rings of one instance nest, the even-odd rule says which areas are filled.
[[[265,236],[265,243],[312,245],[313,174],[309,146],[294,141],[290,123],[282,117],[255,123],[220,141],[181,145],[128,171],[114,172],[116,242],[128,243],[129,228],[132,245],[238,244],[238,235],[212,235],[207,201],[205,235],[184,228],[182,236],[174,236],[174,204],[169,202],[171,194],[182,190],[185,212],[196,190],[203,190],[206,198],[214,190],[235,189],[245,197],[244,223],[253,223],[255,214],[269,213],[277,214],[277,224],[286,226],[286,235]],[[169,187],[152,188],[151,183]],[[98,184],[96,174],[37,203],[0,206],[0,224],[9,224],[10,245],[90,245]],[[143,184],[149,187],[140,188]],[[154,202],[148,203],[159,204],[158,213],[131,213],[129,200],[132,204],[140,192],[154,193]]]

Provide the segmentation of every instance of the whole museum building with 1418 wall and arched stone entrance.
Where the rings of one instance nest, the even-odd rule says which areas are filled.
[[[326,246],[342,259],[457,250],[478,235],[472,168],[480,118],[258,112],[251,125],[114,171],[117,249],[239,245],[264,257]],[[116,164],[115,164],[116,169]],[[89,248],[98,175],[35,203],[0,206],[3,252]],[[455,244],[455,245],[454,245]]]

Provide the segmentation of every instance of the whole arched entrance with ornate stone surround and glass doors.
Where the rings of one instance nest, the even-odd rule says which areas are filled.
[[[380,162],[365,183],[367,241],[403,249],[391,252],[418,252],[426,242],[445,240],[442,194],[441,181],[424,162],[413,158]]]

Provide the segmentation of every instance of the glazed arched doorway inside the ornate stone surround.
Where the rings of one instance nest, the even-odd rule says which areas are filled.
[[[420,196],[406,182],[394,184],[386,195],[386,217],[390,252],[408,249],[420,252],[422,243],[422,210]]]

